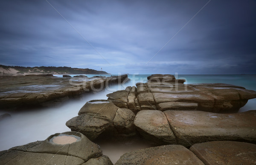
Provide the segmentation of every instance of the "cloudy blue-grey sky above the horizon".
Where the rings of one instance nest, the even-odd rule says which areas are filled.
[[[256,74],[256,0],[2,0],[0,64]]]

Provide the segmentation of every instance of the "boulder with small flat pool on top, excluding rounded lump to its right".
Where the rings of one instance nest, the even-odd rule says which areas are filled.
[[[96,139],[103,132],[115,134],[117,130],[114,128],[113,119],[117,109],[108,100],[91,100],[80,109],[79,116],[67,121],[66,125],[71,131],[81,132],[90,140]]]

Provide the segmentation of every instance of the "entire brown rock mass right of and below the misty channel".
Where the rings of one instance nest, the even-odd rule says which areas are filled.
[[[92,141],[134,137],[157,147],[124,154],[116,165],[255,164],[256,110],[236,112],[256,98],[256,92],[184,81],[154,74],[148,83],[108,94],[108,100],[86,102],[78,116],[66,122],[72,132],[1,151],[0,164],[111,165]],[[53,138],[59,136],[75,141],[55,143]]]

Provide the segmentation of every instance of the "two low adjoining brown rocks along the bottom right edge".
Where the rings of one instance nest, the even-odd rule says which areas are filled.
[[[256,163],[256,145],[246,142],[214,141],[195,144],[163,145],[131,151],[115,165],[252,165]]]

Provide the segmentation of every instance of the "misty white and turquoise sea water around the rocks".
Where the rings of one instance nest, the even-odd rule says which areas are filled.
[[[112,74],[113,75],[113,74]],[[62,77],[62,75],[55,75]],[[72,77],[75,75],[71,75]],[[86,75],[87,77],[99,75]],[[110,77],[111,75],[102,75]],[[52,134],[70,131],[65,123],[76,117],[80,108],[90,100],[108,99],[106,94],[117,90],[123,90],[127,86],[136,86],[136,83],[146,83],[150,74],[129,74],[131,81],[121,85],[111,85],[105,90],[84,94],[80,99],[68,100],[58,107],[31,109],[29,111],[5,112],[0,111],[0,115],[9,113],[11,118],[0,121],[0,151],[9,149],[17,145],[24,145],[37,140],[45,140]],[[178,79],[185,79],[186,83],[227,83],[245,87],[256,91],[256,75],[178,75]],[[256,99],[249,100],[247,104],[240,108],[239,112],[256,109]],[[131,145],[120,148],[115,144],[100,144],[103,154],[110,157],[114,163],[122,154],[128,151],[150,147],[151,145],[141,142],[141,145]]]

